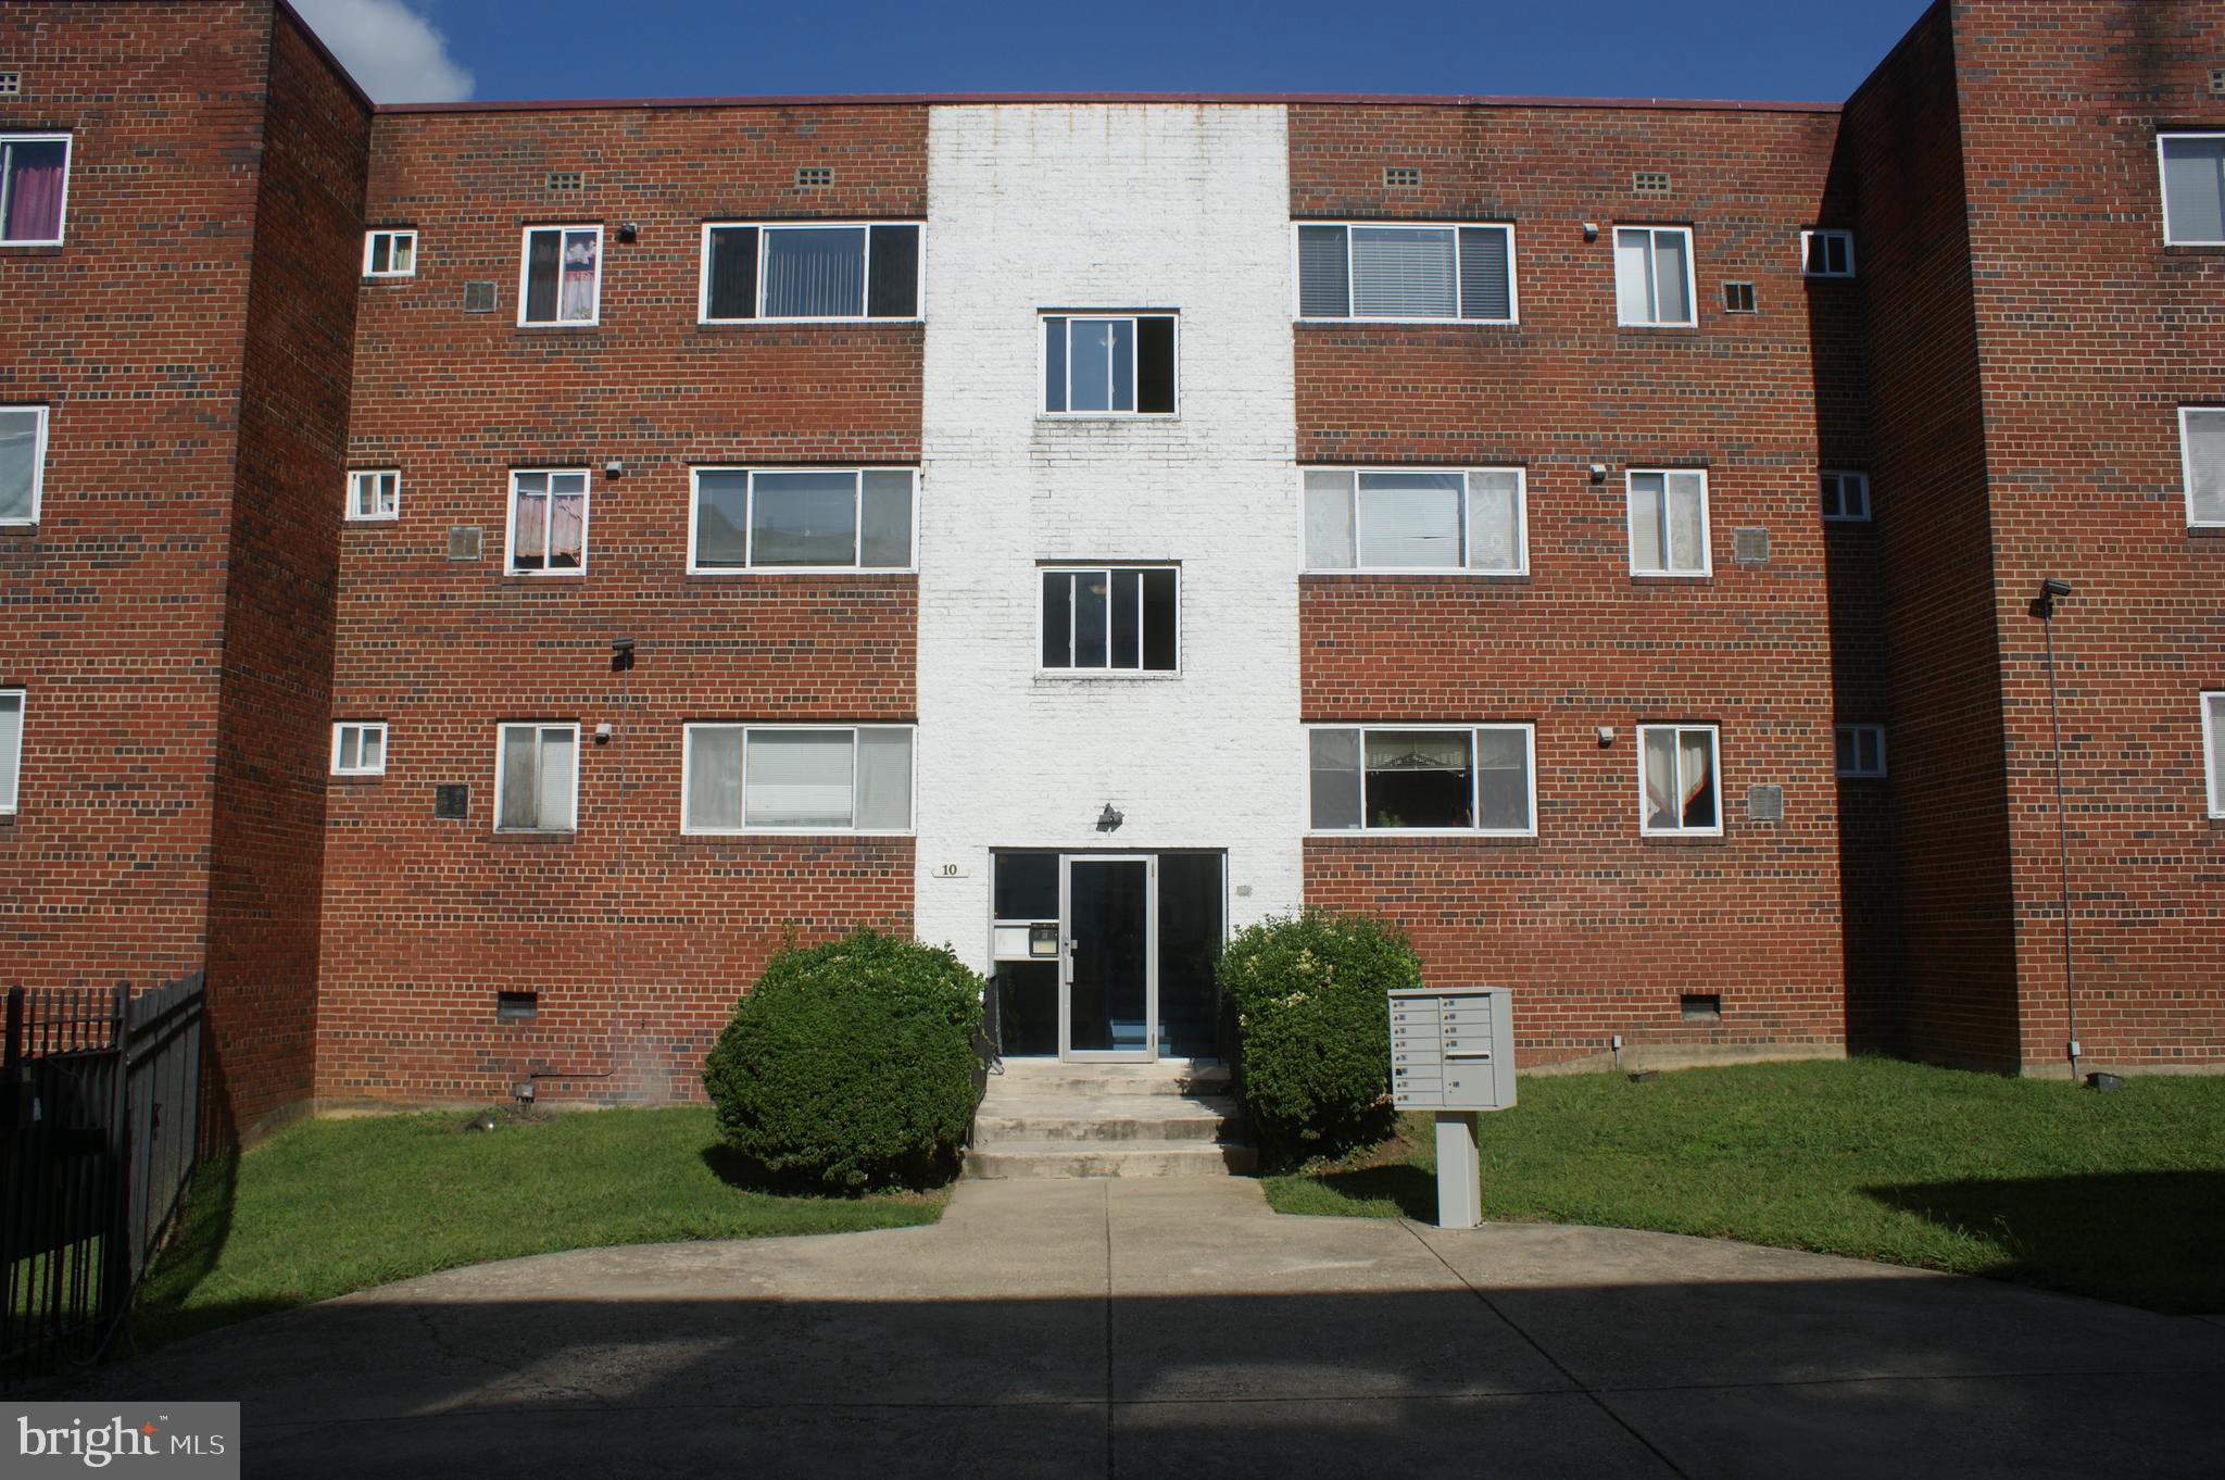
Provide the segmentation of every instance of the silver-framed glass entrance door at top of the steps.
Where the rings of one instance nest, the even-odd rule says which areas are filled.
[[[1061,1053],[1150,1062],[1157,1033],[1157,910],[1150,857],[1066,857]]]

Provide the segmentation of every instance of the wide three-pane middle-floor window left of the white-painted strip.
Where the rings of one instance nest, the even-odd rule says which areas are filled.
[[[910,467],[696,467],[688,570],[910,570]]]

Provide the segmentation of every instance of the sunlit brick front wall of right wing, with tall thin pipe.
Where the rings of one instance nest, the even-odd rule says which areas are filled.
[[[2225,403],[2225,251],[2165,247],[2156,129],[2225,129],[2225,11],[1954,7],[2007,752],[2018,1037],[2069,1037],[2047,679],[2056,616],[2078,1037],[2094,1062],[2225,1062],[2225,823],[2196,694],[2225,685],[2225,541],[2187,534],[2178,405]],[[1896,654],[1898,659],[1898,654]]]

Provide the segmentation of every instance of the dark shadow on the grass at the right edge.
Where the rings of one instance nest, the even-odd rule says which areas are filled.
[[[1982,1273],[2136,1304],[2225,1313],[2225,1173],[2147,1171],[1865,1186],[1878,1202],[1989,1240]]]

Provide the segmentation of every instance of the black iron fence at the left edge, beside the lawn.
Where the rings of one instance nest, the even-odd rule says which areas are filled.
[[[9,988],[0,1075],[0,1384],[102,1355],[200,1146],[200,975]]]

